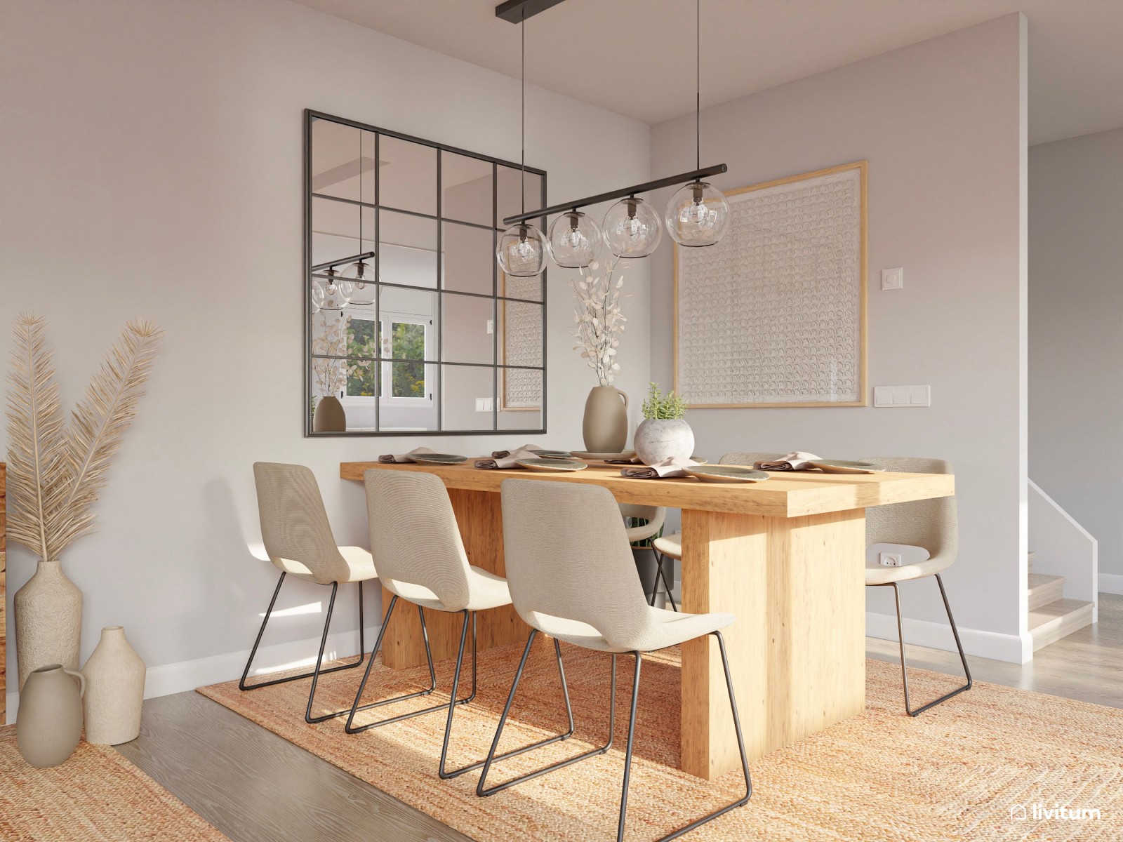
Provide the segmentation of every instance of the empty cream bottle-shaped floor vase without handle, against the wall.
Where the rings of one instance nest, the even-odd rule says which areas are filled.
[[[120,625],[107,625],[85,676],[85,741],[117,745],[140,735],[144,706],[144,661],[125,639]]]

